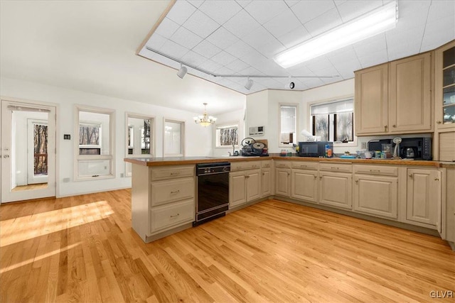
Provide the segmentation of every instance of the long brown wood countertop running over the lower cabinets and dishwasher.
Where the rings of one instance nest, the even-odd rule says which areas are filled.
[[[387,159],[341,159],[341,158],[311,158],[311,157],[166,157],[166,158],[124,158],[125,162],[144,166],[190,165],[213,162],[239,162],[258,160],[285,160],[285,161],[318,161],[318,162],[345,162],[365,163],[375,165],[408,165],[431,167],[455,167],[455,162],[440,162],[427,160],[387,160]]]

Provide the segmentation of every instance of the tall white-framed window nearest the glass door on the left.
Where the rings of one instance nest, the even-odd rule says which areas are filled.
[[[76,106],[75,180],[114,177],[114,111]]]

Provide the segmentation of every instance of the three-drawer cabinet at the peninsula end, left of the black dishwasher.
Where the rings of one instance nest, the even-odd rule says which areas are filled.
[[[144,242],[191,227],[195,216],[194,165],[132,165],[132,227]]]

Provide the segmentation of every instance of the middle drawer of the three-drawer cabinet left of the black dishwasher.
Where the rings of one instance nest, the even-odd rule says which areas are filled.
[[[194,197],[194,178],[165,180],[151,183],[151,206]]]

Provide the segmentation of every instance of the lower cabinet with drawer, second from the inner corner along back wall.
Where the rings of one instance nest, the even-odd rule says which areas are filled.
[[[292,162],[292,198],[318,203],[318,169],[318,162]]]

